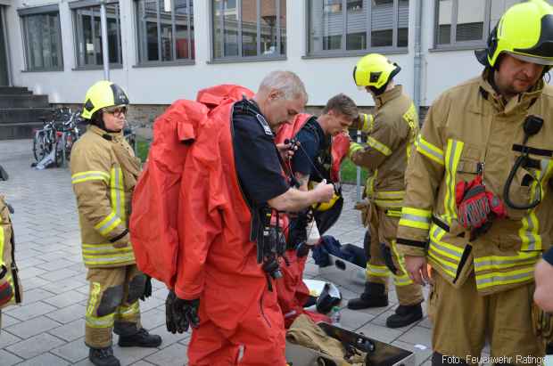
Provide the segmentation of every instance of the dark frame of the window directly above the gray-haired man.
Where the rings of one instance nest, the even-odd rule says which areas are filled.
[[[235,62],[260,62],[260,61],[285,61],[287,59],[287,49],[283,54],[283,41],[282,41],[282,24],[281,24],[281,4],[286,2],[286,0],[275,0],[276,6],[276,53],[275,54],[266,54],[262,55],[261,53],[261,0],[256,0],[256,33],[257,33],[257,55],[256,56],[243,56],[243,33],[242,33],[242,0],[236,1],[236,37],[238,39],[236,45],[238,47],[238,56],[223,56],[215,57],[215,10],[214,0],[210,0],[210,61],[208,63],[235,63]],[[223,12],[223,1],[220,3],[220,24],[223,25],[223,37],[225,34],[225,12]],[[288,7],[286,6],[286,12],[288,12]],[[288,18],[286,17],[286,20]],[[286,44],[287,44],[288,35],[286,35]],[[221,51],[222,54],[225,54],[225,42],[221,42]]]

